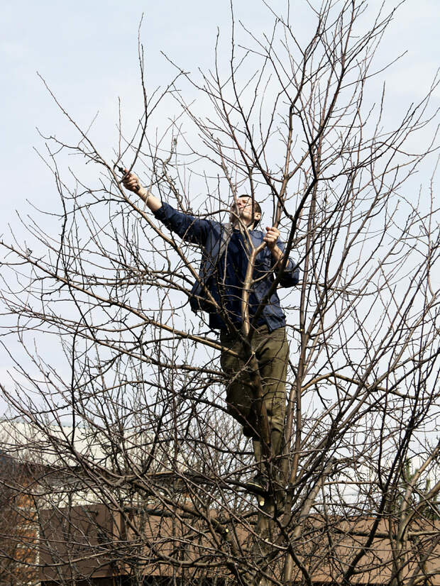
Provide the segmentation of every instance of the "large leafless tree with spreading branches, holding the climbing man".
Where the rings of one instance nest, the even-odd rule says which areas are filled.
[[[288,16],[273,15],[261,38],[233,21],[228,66],[221,50],[200,79],[176,65],[163,92],[145,87],[140,48],[144,111],[136,133],[119,129],[112,160],[59,104],[79,133],[73,146],[47,138],[61,230],[26,219],[35,245],[2,241],[3,299],[29,361],[17,363],[19,393],[4,395],[65,479],[61,501],[52,484],[45,507],[82,536],[65,540],[70,579],[109,564],[139,583],[397,586],[438,575],[438,210],[432,183],[405,191],[436,146],[436,80],[386,128],[385,94],[365,96],[394,12],[369,21],[365,9],[325,0],[311,8],[305,43]],[[65,152],[97,165],[99,180],[67,179]],[[246,490],[251,447],[225,414],[221,345],[204,314],[187,312],[199,252],[123,189],[124,165],[186,213],[224,219],[233,197],[251,194],[297,258],[301,284],[284,299],[282,502],[274,493],[259,506]],[[249,247],[242,335],[252,366],[258,311],[248,316],[246,296],[259,250]],[[29,343],[49,334],[62,368]],[[269,446],[264,414],[262,426]],[[270,468],[270,450],[265,458]],[[94,503],[110,519],[94,531],[65,514]],[[80,563],[85,546],[93,567]],[[59,569],[57,540],[45,536],[44,548]]]

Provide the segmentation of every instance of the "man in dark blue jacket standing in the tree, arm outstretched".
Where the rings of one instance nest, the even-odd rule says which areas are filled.
[[[267,455],[275,460],[282,450],[285,420],[285,380],[289,348],[285,334],[285,315],[276,290],[272,288],[274,272],[284,257],[284,245],[278,240],[280,231],[266,227],[265,233],[255,230],[261,219],[260,206],[252,204],[245,195],[231,206],[231,223],[221,224],[199,219],[173,209],[141,186],[138,177],[127,173],[123,177],[127,189],[137,193],[160,220],[185,241],[202,248],[199,280],[194,283],[190,305],[194,311],[209,312],[209,325],[220,331],[221,367],[229,378],[226,402],[229,413],[243,426],[243,434],[253,439],[258,474],[248,483],[256,492],[268,487],[265,473]],[[248,303],[243,304],[243,283],[252,247],[265,243],[255,258],[253,283]],[[283,287],[293,287],[299,280],[299,270],[288,259],[280,278]],[[268,299],[266,300],[266,297]],[[264,302],[254,324],[253,316]],[[251,346],[243,338],[243,313],[248,310],[252,326]],[[251,384],[250,348],[255,353],[263,389],[261,401],[255,400],[255,385]],[[233,353],[227,350],[233,350]],[[261,417],[263,404],[268,416],[269,446],[262,449]]]

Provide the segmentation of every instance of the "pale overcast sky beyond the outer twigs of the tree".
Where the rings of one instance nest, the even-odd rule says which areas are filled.
[[[285,9],[285,1],[268,1],[275,11]],[[217,28],[228,38],[231,15],[229,0],[2,0],[0,4],[0,166],[4,178],[0,233],[6,233],[11,223],[19,235],[14,210],[26,214],[26,199],[43,209],[58,201],[53,177],[34,150],[44,150],[44,140],[35,128],[60,138],[70,133],[37,72],[83,126],[99,111],[94,136],[105,144],[114,136],[118,97],[128,121],[141,115],[137,47],[142,14],[148,89],[172,77],[172,67],[161,51],[188,71],[207,70],[214,60]],[[295,30],[307,35],[306,1],[291,0],[290,4]],[[373,9],[380,4],[370,2]],[[387,5],[391,8],[392,2]],[[243,19],[257,34],[270,21],[268,9],[258,0],[237,0],[235,11],[237,20]],[[407,52],[384,76],[388,101],[396,105],[396,111],[417,101],[434,78],[439,65],[439,16],[439,0],[407,0],[387,31],[380,60]],[[10,365],[2,353],[0,372]]]

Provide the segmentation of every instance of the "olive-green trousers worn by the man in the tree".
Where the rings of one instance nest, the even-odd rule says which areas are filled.
[[[243,426],[245,436],[258,441],[260,414],[250,385],[249,368],[244,360],[240,336],[221,331],[220,341],[221,345],[238,353],[236,357],[225,351],[221,352],[221,368],[229,379],[226,387],[228,412]],[[281,438],[284,432],[286,376],[289,362],[289,345],[285,328],[270,332],[268,326],[260,326],[253,336],[252,348],[258,361],[269,429],[271,433],[276,430],[277,436]],[[276,447],[275,453],[279,453],[279,449]]]

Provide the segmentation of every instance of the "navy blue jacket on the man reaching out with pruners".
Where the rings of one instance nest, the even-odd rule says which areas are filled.
[[[160,209],[154,212],[154,216],[163,222],[171,231],[177,233],[180,238],[198,244],[202,248],[200,278],[206,284],[212,297],[227,312],[229,319],[239,327],[241,324],[243,279],[248,265],[246,245],[243,242],[243,236],[241,236],[240,231],[232,231],[226,253],[221,254],[219,258],[219,243],[224,234],[224,224],[183,214],[165,202],[162,203]],[[249,235],[255,247],[263,242],[263,232],[249,230]],[[285,245],[282,242],[278,241],[277,245],[281,250],[284,250]],[[275,278],[273,265],[274,260],[272,254],[268,247],[265,246],[255,259],[253,273],[255,282],[253,284],[253,291],[249,297],[249,314],[251,317],[255,314],[260,302],[273,283]],[[280,285],[282,287],[293,287],[298,281],[299,269],[295,265],[295,262],[289,259],[282,273]],[[192,288],[192,298],[190,298],[193,311],[197,311],[197,307],[199,306],[198,300],[194,297],[196,292],[203,296],[197,283]],[[203,307],[203,302],[201,305]],[[285,326],[285,314],[281,309],[280,299],[277,296],[276,290],[263,308],[257,325],[261,324],[267,324],[270,331]],[[225,328],[224,321],[216,312],[209,313],[209,325],[211,328]]]

